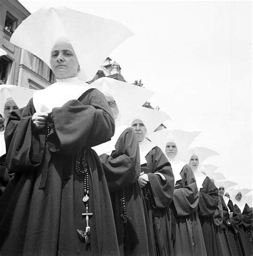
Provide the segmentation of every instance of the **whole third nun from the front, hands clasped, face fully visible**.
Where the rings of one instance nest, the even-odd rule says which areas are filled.
[[[162,111],[141,108],[131,124],[140,147],[141,173],[138,182],[145,198],[154,255],[173,255],[168,206],[172,201],[174,176],[167,157],[146,135],[168,119]]]

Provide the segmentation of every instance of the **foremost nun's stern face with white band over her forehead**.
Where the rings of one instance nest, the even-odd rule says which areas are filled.
[[[54,44],[50,64],[53,73],[58,79],[78,76],[79,64],[70,43],[59,42]]]

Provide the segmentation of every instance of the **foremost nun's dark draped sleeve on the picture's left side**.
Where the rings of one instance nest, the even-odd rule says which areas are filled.
[[[34,132],[31,117],[33,101],[11,113],[5,130],[6,167],[10,172],[28,171],[41,164],[45,148],[45,132]]]

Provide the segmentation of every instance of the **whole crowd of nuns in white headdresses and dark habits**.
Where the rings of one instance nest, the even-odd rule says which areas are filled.
[[[253,254],[252,191],[208,175],[203,161],[218,153],[192,146],[199,132],[156,129],[169,116],[141,107],[143,87],[84,82],[130,35],[65,7],[13,33],[57,80],[0,87],[2,256]]]

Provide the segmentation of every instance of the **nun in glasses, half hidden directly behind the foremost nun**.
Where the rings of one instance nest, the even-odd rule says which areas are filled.
[[[144,196],[138,183],[138,139],[131,127],[123,125],[129,115],[133,116],[146,102],[151,93],[145,88],[110,78],[100,78],[93,86],[104,93],[116,124],[112,140],[93,149],[98,152],[105,171],[120,255],[152,256],[154,247],[151,230]],[[126,97],[131,100],[125,101]]]

